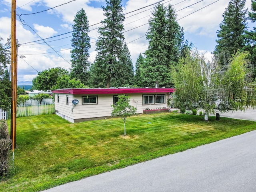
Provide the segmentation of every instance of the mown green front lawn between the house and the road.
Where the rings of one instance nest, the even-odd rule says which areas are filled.
[[[14,175],[0,191],[40,191],[251,130],[256,122],[178,113],[71,124],[52,114],[17,118]]]

